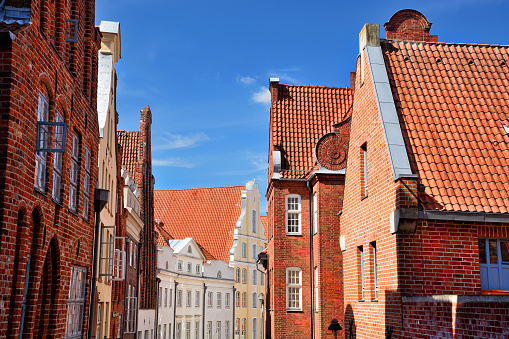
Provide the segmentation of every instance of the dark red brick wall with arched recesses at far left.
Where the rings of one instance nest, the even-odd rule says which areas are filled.
[[[85,3],[89,3],[88,12]],[[94,3],[77,1],[82,18],[78,50],[96,55],[100,41],[93,26]],[[0,86],[0,337],[19,337],[22,299],[28,268],[28,300],[23,337],[63,337],[72,266],[87,269],[86,298],[90,291],[94,233],[93,196],[97,167],[91,167],[88,220],[83,214],[84,151],[92,152],[97,163],[98,123],[96,98],[84,92],[79,76],[68,70],[64,36],[61,31],[69,9],[62,5],[55,19],[52,39],[39,29],[39,2],[32,2],[31,25],[16,31],[10,41],[2,36],[2,84]],[[91,19],[90,19],[91,18]],[[89,41],[88,46],[85,40]],[[34,52],[37,51],[37,52]],[[78,53],[77,64],[83,67]],[[91,83],[91,86],[96,86]],[[47,154],[44,192],[34,189],[35,140],[39,91],[49,99],[49,119],[59,112],[68,124],[62,166],[62,203],[52,199],[54,153]],[[73,131],[81,135],[77,214],[68,209]],[[83,312],[87,328],[88,305]]]

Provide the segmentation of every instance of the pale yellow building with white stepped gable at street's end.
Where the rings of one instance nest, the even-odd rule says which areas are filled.
[[[263,250],[265,234],[260,220],[260,191],[255,180],[242,190],[242,210],[234,230],[230,250],[230,266],[235,279],[234,338],[262,338],[262,308],[260,294],[264,291],[263,267],[256,265]]]

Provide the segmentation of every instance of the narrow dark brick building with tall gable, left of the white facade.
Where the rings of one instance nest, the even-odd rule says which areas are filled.
[[[133,250],[136,248],[139,252],[139,266],[138,268],[130,267],[126,279],[131,286],[139,283],[137,286],[139,286],[140,310],[154,313],[155,316],[157,306],[157,232],[154,229],[155,179],[152,175],[152,112],[147,106],[140,113],[139,131],[117,131],[117,140],[122,147],[122,165],[132,176],[139,190],[140,218],[143,221],[140,246],[136,239],[129,238],[129,246],[133,246]],[[139,274],[138,283],[134,278],[137,274]]]

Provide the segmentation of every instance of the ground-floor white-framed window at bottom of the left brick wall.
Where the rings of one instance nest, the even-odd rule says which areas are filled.
[[[87,270],[73,266],[69,299],[67,300],[66,338],[81,338],[83,334],[83,311],[85,310],[85,287]]]

